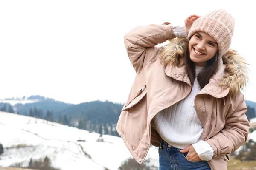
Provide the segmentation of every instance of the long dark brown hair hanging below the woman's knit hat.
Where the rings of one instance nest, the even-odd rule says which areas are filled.
[[[193,86],[195,80],[195,62],[190,59],[189,56],[189,40],[186,42],[185,46],[185,54],[184,54],[184,62],[186,66],[186,71]],[[216,54],[207,61],[205,67],[198,74],[198,83],[202,88],[209,83],[210,78],[215,74],[218,69],[218,51]]]

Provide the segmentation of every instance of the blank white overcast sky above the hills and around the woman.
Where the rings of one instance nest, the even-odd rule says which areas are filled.
[[[231,48],[250,64],[243,94],[256,102],[253,2],[1,0],[0,99],[38,94],[75,104],[124,103],[135,77],[123,43],[127,31],[150,23],[182,26],[190,14],[223,8],[235,18]]]

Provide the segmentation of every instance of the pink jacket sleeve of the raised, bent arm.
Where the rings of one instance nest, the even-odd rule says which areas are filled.
[[[140,26],[125,34],[125,48],[136,73],[139,73],[146,63],[155,59],[161,48],[155,45],[172,38],[175,38],[175,35],[170,23]]]

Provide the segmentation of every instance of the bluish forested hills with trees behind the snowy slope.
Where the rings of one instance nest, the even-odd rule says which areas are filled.
[[[1,111],[15,113],[12,105],[1,104]],[[49,107],[50,108],[50,107]],[[248,120],[256,117],[255,109],[247,107],[246,116]],[[70,107],[60,111],[47,110],[46,106],[43,109],[37,107],[27,108],[23,112],[26,116],[45,119],[51,122],[58,122],[62,125],[77,127],[79,129],[96,132],[102,135],[108,134],[119,136],[116,132],[116,123],[121,113],[122,105],[113,102],[86,102],[79,105],[70,105]],[[46,111],[45,111],[46,110]],[[19,114],[19,111],[17,111]]]

